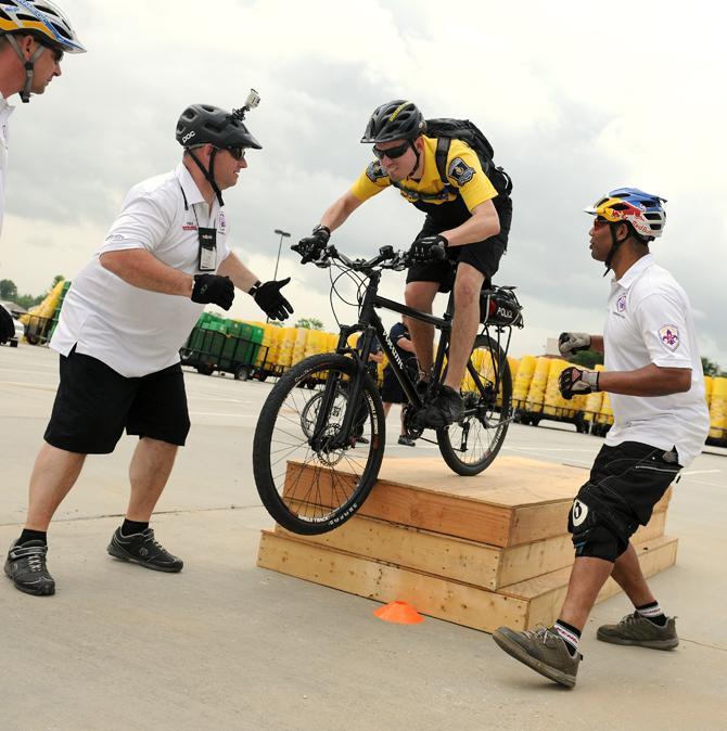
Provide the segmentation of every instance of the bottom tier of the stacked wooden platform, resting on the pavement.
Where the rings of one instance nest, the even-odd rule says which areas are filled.
[[[653,575],[674,564],[676,539],[641,544],[638,553],[645,574]],[[422,614],[488,632],[552,624],[570,577],[566,568],[494,592],[271,531],[263,531],[257,564],[380,602],[407,601]],[[613,591],[604,587],[598,601]]]

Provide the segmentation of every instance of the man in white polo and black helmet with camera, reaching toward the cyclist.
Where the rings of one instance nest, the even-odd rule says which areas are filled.
[[[235,286],[272,319],[293,311],[280,294],[290,280],[260,284],[227,244],[221,191],[247,167],[245,151],[260,150],[243,118],[244,111],[188,107],[177,125],[180,165],[131,189],[103,246],[74,278],[51,341],[61,382],[30,477],[27,522],[5,563],[21,591],[54,593],[50,521],[86,456],[112,452],[124,429],[139,443],[126,520],[109,553],[160,572],[182,568],[149,527],[190,426],[179,348],[204,305],[229,309]]]

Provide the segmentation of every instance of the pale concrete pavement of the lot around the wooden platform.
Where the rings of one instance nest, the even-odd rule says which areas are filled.
[[[683,475],[666,533],[677,565],[651,581],[677,615],[673,652],[596,641],[630,610],[598,604],[569,691],[502,653],[489,634],[426,618],[391,625],[380,604],[257,568],[271,526],[252,479],[252,435],[270,384],[186,376],[192,431],[152,526],[184,559],[177,575],[105,551],[128,497],[135,440],[88,459],[49,533],[54,597],[0,577],[0,729],[725,729],[727,451]],[[0,347],[0,546],[24,523],[27,482],[50,414],[58,357]],[[396,444],[387,457],[433,457]],[[513,424],[503,454],[583,467],[601,440]],[[443,471],[446,470],[443,463]]]

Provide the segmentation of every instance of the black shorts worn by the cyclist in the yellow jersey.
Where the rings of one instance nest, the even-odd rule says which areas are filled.
[[[493,203],[500,219],[500,232],[498,234],[484,241],[465,244],[464,246],[452,246],[447,249],[447,259],[444,261],[425,261],[413,265],[407,273],[407,284],[409,282],[438,282],[439,292],[449,292],[455,283],[456,269],[454,265],[459,261],[469,264],[482,272],[485,277],[485,282],[489,284],[493,277],[497,273],[502,254],[505,254],[505,249],[508,247],[508,236],[512,222],[512,201],[509,197],[500,198],[498,196],[494,198]],[[419,232],[417,239],[432,236],[442,231],[461,226],[471,214],[463,203],[460,208],[463,208],[465,215],[461,210],[459,215],[429,213],[424,221],[424,228]]]

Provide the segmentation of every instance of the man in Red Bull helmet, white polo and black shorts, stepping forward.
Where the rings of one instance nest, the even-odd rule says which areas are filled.
[[[575,684],[581,632],[609,576],[635,611],[599,627],[599,640],[656,650],[679,643],[674,617],[651,593],[629,542],[700,453],[710,426],[689,299],[649,253],[664,230],[663,204],[658,195],[622,188],[586,209],[596,217],[591,256],[615,274],[605,328],[603,336],[562,333],[559,344],[564,357],[588,348],[603,352],[607,370],[567,368],[560,390],[569,399],[608,392],[614,423],[571,508],[576,559],[558,621],[535,632],[500,627],[493,636],[507,653],[563,685]]]

